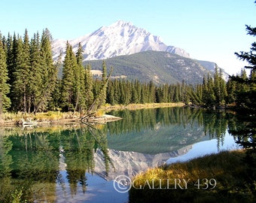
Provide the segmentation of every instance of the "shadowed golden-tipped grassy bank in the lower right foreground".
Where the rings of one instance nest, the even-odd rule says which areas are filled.
[[[133,178],[130,202],[255,202],[244,156],[221,152],[148,169]]]

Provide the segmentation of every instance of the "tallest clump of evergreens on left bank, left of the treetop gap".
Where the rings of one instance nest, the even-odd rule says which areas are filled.
[[[38,33],[29,41],[27,30],[23,39],[8,35],[6,53],[11,110],[36,113],[47,109],[56,83],[50,40],[47,29],[41,41]]]

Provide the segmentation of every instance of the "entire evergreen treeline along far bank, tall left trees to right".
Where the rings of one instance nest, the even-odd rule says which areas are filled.
[[[40,36],[34,34],[29,40],[27,30],[8,38],[0,35],[0,114],[3,111],[37,113],[61,109],[62,111],[87,111],[94,105],[111,105],[151,102],[184,102],[187,105],[223,106],[236,102],[243,105],[242,92],[249,84],[238,83],[247,77],[245,71],[231,77],[226,83],[221,69],[215,68],[214,77],[203,78],[203,83],[162,84],[152,81],[113,79],[107,85],[107,67],[102,63],[102,77],[93,78],[90,65],[83,65],[81,44],[76,53],[67,42],[66,56],[62,63],[61,54],[53,62],[51,35],[45,29]],[[58,71],[62,65],[62,77]],[[255,77],[254,72],[249,77]],[[249,98],[247,98],[249,99]]]

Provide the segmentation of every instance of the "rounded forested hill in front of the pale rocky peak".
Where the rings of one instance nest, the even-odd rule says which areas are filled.
[[[85,61],[93,70],[102,70],[103,60]],[[164,51],[144,51],[105,59],[108,68],[114,68],[113,77],[126,77],[154,83],[202,83],[209,73],[197,60]]]

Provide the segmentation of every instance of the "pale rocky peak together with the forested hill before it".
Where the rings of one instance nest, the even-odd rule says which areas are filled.
[[[160,37],[122,20],[69,41],[75,53],[79,43],[84,50],[84,63],[90,62],[96,72],[102,70],[101,60],[105,59],[107,65],[114,67],[114,77],[154,83],[202,83],[203,76],[215,71],[214,62],[190,59],[185,50],[167,46]],[[52,47],[53,59],[61,52],[64,59],[66,41],[55,40]]]

